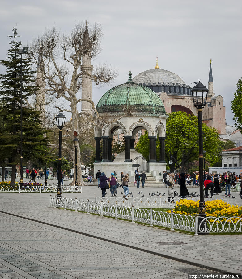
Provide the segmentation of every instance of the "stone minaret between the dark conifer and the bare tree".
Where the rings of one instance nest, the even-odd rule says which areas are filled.
[[[42,113],[45,114],[45,85],[46,82],[42,80],[42,73],[40,68],[40,55],[38,57],[38,64],[37,64],[37,77],[35,84],[39,86],[39,90],[36,92],[36,109],[40,110]]]

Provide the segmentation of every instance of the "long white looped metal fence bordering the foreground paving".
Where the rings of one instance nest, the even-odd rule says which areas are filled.
[[[194,232],[198,235],[199,232],[242,232],[242,218],[237,217],[206,217],[201,218],[201,222],[198,222],[200,217],[196,214],[195,216],[175,214],[173,210],[171,213],[155,211],[153,209],[143,209],[119,206],[118,204],[106,204],[103,201],[81,201],[77,198],[70,199],[66,197],[57,198],[56,196],[50,195],[50,207],[59,207],[64,210],[70,209],[87,214],[94,213],[103,216],[113,217],[116,220],[118,218],[125,219],[134,222],[141,222],[149,224],[151,227],[154,225],[162,226],[165,228],[171,228],[172,231],[175,229]],[[234,218],[238,221],[234,221]],[[211,222],[213,220],[213,222]]]

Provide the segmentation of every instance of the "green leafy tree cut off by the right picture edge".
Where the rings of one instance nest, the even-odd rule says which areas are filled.
[[[237,83],[237,90],[234,93],[231,108],[234,113],[235,125],[242,130],[242,78]]]

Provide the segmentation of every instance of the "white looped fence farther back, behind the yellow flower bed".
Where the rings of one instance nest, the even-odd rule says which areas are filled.
[[[134,198],[128,196],[128,200],[125,200],[123,197],[109,197],[109,198],[102,198],[95,196],[95,202],[100,203],[101,201],[104,204],[110,204],[110,205],[118,205],[122,207],[163,207],[163,208],[174,208],[176,201],[180,201],[180,198],[175,197],[174,202],[168,201],[168,198],[164,197],[157,197],[157,198]],[[171,199],[172,200],[172,199]],[[186,200],[194,200],[192,197],[187,197]],[[197,200],[197,199],[196,199]],[[236,199],[224,198],[223,201],[231,204],[231,205],[238,205],[240,206],[240,202],[238,202]],[[212,201],[211,199],[206,199],[205,201]]]

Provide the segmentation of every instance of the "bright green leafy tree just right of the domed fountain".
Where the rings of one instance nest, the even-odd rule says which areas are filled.
[[[198,119],[196,116],[178,111],[169,114],[166,122],[165,156],[166,162],[172,156],[171,170],[184,170],[185,165],[198,158]],[[203,148],[206,161],[213,164],[218,161],[219,134],[214,128],[203,123]],[[142,135],[136,150],[146,159],[149,157],[149,139],[147,132]],[[156,141],[156,155],[159,154],[159,140]]]

